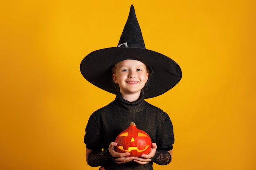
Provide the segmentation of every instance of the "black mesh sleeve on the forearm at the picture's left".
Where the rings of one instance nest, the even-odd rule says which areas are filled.
[[[87,162],[89,166],[102,166],[112,159],[112,155],[107,150],[103,151],[93,151],[88,156]]]

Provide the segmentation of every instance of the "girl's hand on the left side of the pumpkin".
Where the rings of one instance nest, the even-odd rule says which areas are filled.
[[[108,146],[108,150],[109,150],[110,154],[112,155],[113,160],[116,163],[118,163],[118,164],[126,163],[126,162],[130,162],[133,159],[135,159],[135,157],[126,157],[126,156],[130,155],[129,152],[125,152],[125,153],[116,152],[115,146],[117,146],[117,143],[111,142],[110,145]]]

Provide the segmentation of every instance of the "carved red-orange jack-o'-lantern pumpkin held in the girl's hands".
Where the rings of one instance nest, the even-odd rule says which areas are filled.
[[[136,128],[133,122],[117,136],[115,142],[117,142],[116,151],[119,153],[130,152],[128,157],[141,157],[142,154],[148,154],[151,150],[149,135]]]

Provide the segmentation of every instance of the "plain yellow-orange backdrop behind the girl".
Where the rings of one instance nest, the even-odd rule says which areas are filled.
[[[256,169],[255,0],[1,0],[1,170],[98,170],[86,164],[84,129],[115,95],[79,64],[117,46],[131,4],[146,48],[183,73],[147,100],[175,130],[172,162],[154,169]]]

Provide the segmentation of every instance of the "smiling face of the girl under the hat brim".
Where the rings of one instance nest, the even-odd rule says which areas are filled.
[[[139,93],[148,80],[146,65],[138,60],[124,60],[116,64],[113,80],[121,94]]]

